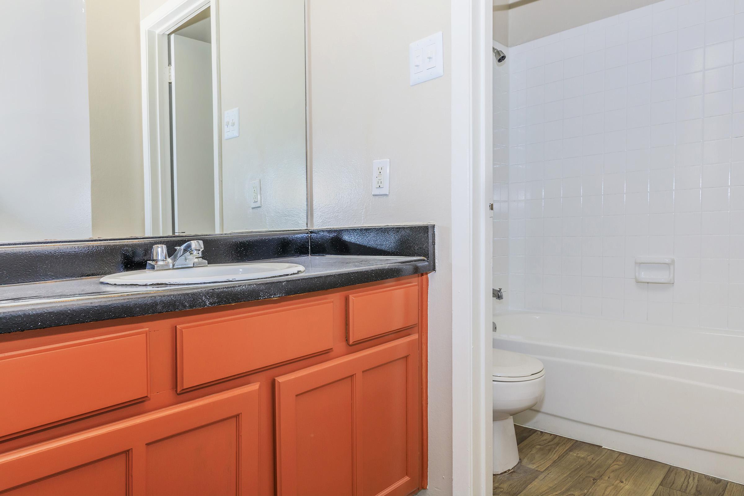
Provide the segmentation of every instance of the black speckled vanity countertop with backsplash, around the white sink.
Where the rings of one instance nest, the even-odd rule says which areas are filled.
[[[30,249],[24,249],[23,245],[0,246],[0,277],[5,263],[17,262],[19,257],[27,264],[33,264],[35,258],[39,260],[40,255],[33,253],[34,250],[46,257],[57,256],[57,262],[61,260],[60,271],[64,272],[53,274],[54,280],[37,277],[34,282],[28,281],[28,272],[16,270],[17,277],[8,277],[6,272],[4,280],[0,278],[4,282],[0,284],[0,333],[263,300],[434,270],[434,226],[431,225],[221,235],[217,243],[208,236],[196,237],[204,239],[205,258],[210,263],[272,260],[298,263],[305,271],[231,283],[110,286],[99,283],[100,277],[144,268],[141,265],[146,258],[140,252],[155,244],[153,239],[109,240],[101,242],[105,244],[103,248],[97,242],[54,244],[61,247],[60,251],[45,244],[29,245]],[[181,239],[167,241],[174,245]],[[81,245],[86,247],[80,248]],[[247,250],[246,246],[251,248]],[[119,258],[115,256],[117,249]],[[75,257],[76,251],[82,251],[86,257]],[[273,256],[261,256],[267,254]],[[90,261],[97,274],[83,272],[80,275],[85,277],[73,277],[74,265],[81,260]],[[38,271],[36,267],[33,270]],[[91,270],[90,265],[86,268]]]

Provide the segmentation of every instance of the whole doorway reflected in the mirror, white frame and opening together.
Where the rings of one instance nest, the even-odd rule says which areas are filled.
[[[222,232],[214,0],[167,0],[141,23],[145,234]]]

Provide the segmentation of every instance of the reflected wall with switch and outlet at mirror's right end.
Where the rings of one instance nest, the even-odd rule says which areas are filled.
[[[307,225],[304,26],[303,0],[219,1],[222,112],[240,109],[240,136],[222,140],[225,232]]]

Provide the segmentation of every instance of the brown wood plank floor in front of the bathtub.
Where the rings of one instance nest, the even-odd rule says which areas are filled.
[[[501,496],[744,496],[744,486],[516,426],[519,465],[493,476]]]

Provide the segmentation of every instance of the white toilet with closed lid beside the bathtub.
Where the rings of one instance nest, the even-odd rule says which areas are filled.
[[[493,349],[493,473],[519,463],[512,416],[537,405],[545,394],[542,361]]]

